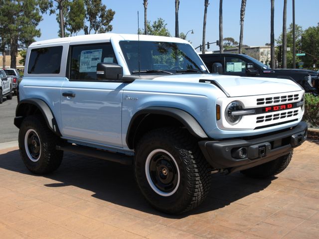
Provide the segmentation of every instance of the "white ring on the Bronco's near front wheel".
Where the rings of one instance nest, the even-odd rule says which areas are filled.
[[[166,155],[168,155],[170,157],[170,159],[172,159],[172,161],[174,162],[174,166],[176,167],[176,170],[177,170],[177,184],[175,186],[175,188],[173,189],[173,191],[171,192],[163,192],[161,191],[153,182],[152,178],[151,178],[151,174],[150,174],[150,162],[151,162],[151,159],[153,158],[153,156],[157,153],[165,153]],[[171,196],[173,195],[177,189],[178,189],[178,186],[179,186],[179,182],[180,182],[180,173],[179,173],[179,168],[178,168],[178,165],[177,165],[177,162],[176,160],[174,159],[174,157],[169,153],[167,152],[166,150],[164,149],[155,149],[153,150],[147,157],[146,159],[146,162],[145,162],[145,174],[146,174],[146,178],[148,180],[148,183],[149,185],[151,186],[151,188],[154,190],[154,192],[156,192],[157,194],[159,194],[160,196],[163,196],[163,197],[168,197],[168,196]]]

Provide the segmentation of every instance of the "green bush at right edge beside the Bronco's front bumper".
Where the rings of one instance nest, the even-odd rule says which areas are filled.
[[[319,97],[311,94],[305,95],[305,115],[303,118],[312,127],[319,127]]]

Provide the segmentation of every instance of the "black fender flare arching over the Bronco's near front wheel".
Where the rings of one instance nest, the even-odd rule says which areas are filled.
[[[151,114],[169,116],[171,118],[174,118],[182,123],[186,127],[186,129],[195,137],[208,138],[207,134],[197,122],[197,120],[189,113],[180,109],[170,107],[148,107],[135,113],[130,121],[126,135],[126,143],[129,148],[133,149],[134,147],[135,135],[141,124],[141,121],[143,121],[145,117]]]

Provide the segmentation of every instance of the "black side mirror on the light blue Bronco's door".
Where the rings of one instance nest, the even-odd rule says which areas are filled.
[[[114,63],[98,63],[96,67],[96,76],[98,80],[122,80],[123,67]]]

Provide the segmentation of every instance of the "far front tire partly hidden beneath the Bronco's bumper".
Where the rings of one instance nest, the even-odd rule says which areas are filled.
[[[270,162],[241,171],[242,174],[251,178],[269,178],[284,171],[291,161],[293,151]]]

